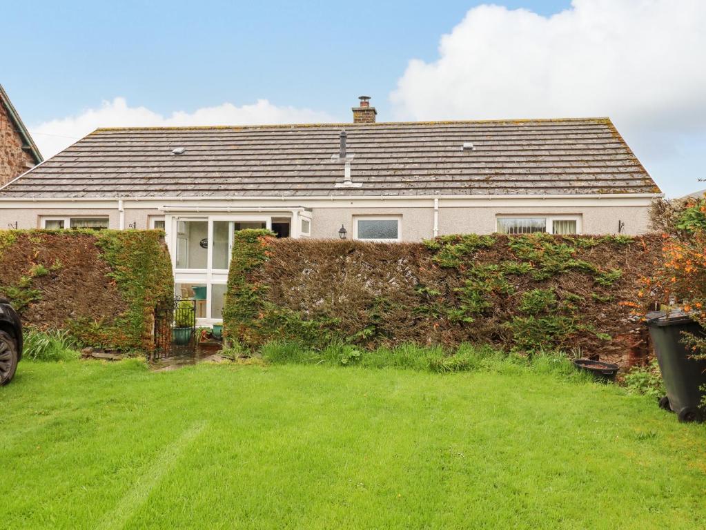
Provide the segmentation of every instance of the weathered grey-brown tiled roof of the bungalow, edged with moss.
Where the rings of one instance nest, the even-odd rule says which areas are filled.
[[[593,193],[661,193],[605,118],[98,129],[0,197]]]

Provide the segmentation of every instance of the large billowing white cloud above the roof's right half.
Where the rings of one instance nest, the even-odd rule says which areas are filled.
[[[397,119],[610,116],[668,193],[700,185],[706,1],[574,0],[544,17],[479,6],[409,61]],[[689,162],[690,160],[690,162]]]

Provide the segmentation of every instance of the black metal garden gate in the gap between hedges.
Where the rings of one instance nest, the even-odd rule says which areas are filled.
[[[174,297],[155,309],[155,349],[150,359],[193,355],[196,351],[196,300]]]

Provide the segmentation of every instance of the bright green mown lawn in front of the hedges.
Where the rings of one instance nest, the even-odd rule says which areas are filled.
[[[20,363],[2,528],[702,529],[706,427],[508,366]]]

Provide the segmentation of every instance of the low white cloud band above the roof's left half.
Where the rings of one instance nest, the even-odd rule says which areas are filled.
[[[98,127],[170,127],[198,125],[304,124],[334,121],[323,112],[295,107],[277,107],[268,100],[236,107],[224,103],[165,117],[146,107],[129,107],[123,97],[104,101],[98,109],[76,116],[45,121],[30,127],[30,133],[44,158],[49,158]]]

